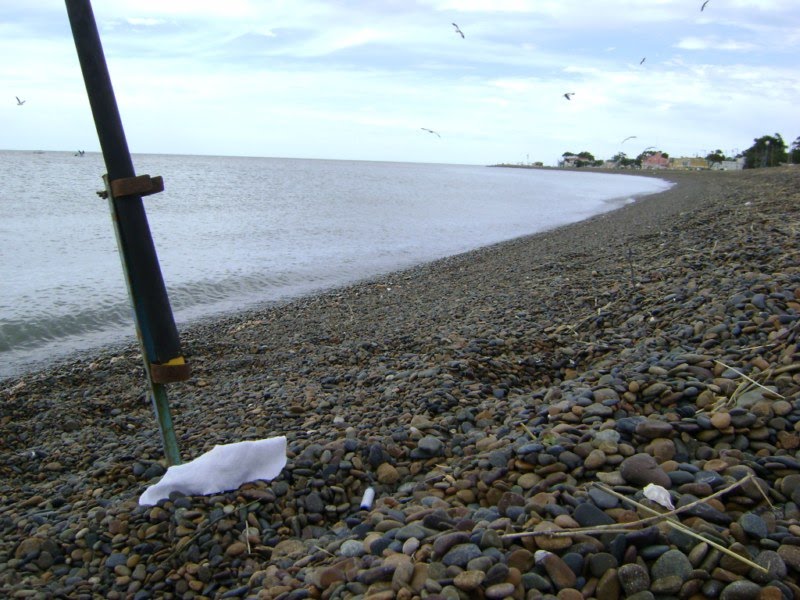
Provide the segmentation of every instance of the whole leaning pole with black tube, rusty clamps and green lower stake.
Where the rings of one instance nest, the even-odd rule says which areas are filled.
[[[186,379],[188,367],[181,354],[178,331],[142,203],[142,195],[160,191],[163,184],[160,178],[136,177],[90,1],[65,1],[108,171],[106,193],[164,452],[170,464],[180,464],[163,383]]]

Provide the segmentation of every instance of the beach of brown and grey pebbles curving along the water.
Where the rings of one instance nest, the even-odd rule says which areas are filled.
[[[0,381],[0,597],[800,598],[800,169],[657,176],[182,328],[183,459],[286,436],[272,481],[140,506],[138,347]]]

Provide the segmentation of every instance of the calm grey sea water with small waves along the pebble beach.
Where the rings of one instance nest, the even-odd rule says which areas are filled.
[[[351,283],[616,208],[667,182],[603,173],[135,155],[175,320]],[[0,151],[0,378],[135,339],[102,156]]]

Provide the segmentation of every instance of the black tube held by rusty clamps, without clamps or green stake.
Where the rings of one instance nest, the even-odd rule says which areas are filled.
[[[91,4],[89,0],[66,0],[66,4],[108,180],[134,177]],[[180,340],[142,198],[132,194],[112,198],[112,202],[145,358],[151,364],[168,363],[181,357]]]

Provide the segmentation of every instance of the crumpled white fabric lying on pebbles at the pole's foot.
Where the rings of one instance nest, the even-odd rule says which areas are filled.
[[[284,466],[285,436],[214,446],[191,462],[167,469],[161,480],[139,497],[139,504],[156,504],[176,491],[205,496],[235,490],[249,481],[275,479]]]

